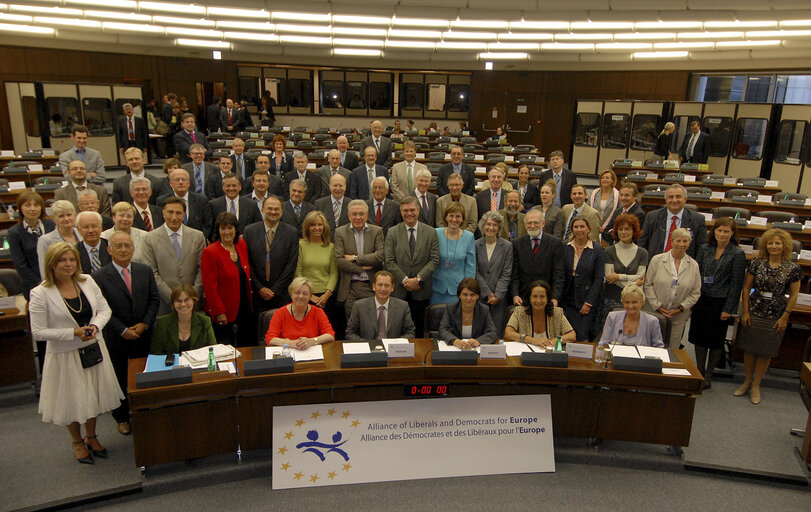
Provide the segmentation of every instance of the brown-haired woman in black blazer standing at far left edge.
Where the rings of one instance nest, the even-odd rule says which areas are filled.
[[[37,258],[37,240],[41,235],[54,230],[54,222],[45,218],[45,201],[36,192],[26,191],[17,197],[17,213],[20,221],[8,230],[8,245],[11,261],[20,274],[25,300],[30,299],[31,289],[42,281]]]

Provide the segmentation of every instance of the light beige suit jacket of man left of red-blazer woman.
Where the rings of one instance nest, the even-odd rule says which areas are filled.
[[[194,286],[197,296],[203,296],[203,279],[200,275],[200,259],[206,247],[206,238],[202,232],[184,226],[178,261],[172,240],[166,228],[154,229],[146,235],[144,243],[144,260],[152,267],[161,305],[168,311],[172,288],[180,283]]]

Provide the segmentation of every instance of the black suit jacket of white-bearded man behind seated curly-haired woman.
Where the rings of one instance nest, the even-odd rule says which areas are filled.
[[[532,253],[532,241],[524,235],[512,241],[513,276],[510,294],[523,297],[527,286],[541,279],[552,287],[552,298],[559,302],[563,297],[563,242],[544,234],[537,254]]]

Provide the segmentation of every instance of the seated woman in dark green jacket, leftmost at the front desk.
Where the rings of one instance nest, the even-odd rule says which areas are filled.
[[[197,292],[188,284],[172,290],[172,312],[158,317],[152,333],[150,354],[179,354],[208,345],[216,345],[211,319],[196,313]]]

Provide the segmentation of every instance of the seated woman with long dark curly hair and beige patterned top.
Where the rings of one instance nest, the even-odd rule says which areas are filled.
[[[504,328],[505,341],[520,341],[540,347],[554,347],[557,337],[575,341],[575,332],[563,314],[555,307],[552,288],[546,281],[533,281],[524,292],[524,305],[516,306]]]

